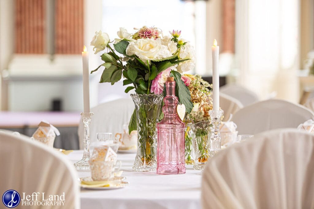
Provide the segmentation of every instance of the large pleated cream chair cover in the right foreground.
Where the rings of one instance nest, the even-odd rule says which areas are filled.
[[[314,208],[314,135],[267,131],[211,158],[202,176],[202,206]]]

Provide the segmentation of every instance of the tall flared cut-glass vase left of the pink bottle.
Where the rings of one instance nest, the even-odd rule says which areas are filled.
[[[137,154],[133,171],[156,171],[156,124],[163,94],[131,94],[137,115]]]

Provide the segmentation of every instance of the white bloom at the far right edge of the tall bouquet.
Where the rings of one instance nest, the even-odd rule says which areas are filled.
[[[183,72],[187,72],[189,70],[194,69],[195,51],[194,51],[194,47],[191,44],[187,43],[186,45],[181,46],[179,57],[180,59],[189,59],[189,60],[179,63],[177,67],[178,72],[183,73]]]

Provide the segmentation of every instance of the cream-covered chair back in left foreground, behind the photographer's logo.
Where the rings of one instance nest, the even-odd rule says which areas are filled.
[[[64,192],[64,206],[44,206],[44,208],[80,208],[79,185],[73,164],[62,154],[35,142],[30,137],[14,136],[0,132],[0,179],[1,190],[16,190],[20,199],[25,195],[39,192],[38,200],[49,195],[61,196]],[[34,196],[35,197],[35,196]],[[26,200],[25,200],[26,201]],[[36,201],[37,202],[37,201]],[[21,208],[43,208],[41,205],[23,205]]]

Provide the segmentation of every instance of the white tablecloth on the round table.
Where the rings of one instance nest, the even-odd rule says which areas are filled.
[[[67,158],[75,163],[83,156],[82,150]],[[81,190],[81,208],[110,209],[194,209],[201,208],[201,171],[187,165],[186,174],[157,175],[155,172],[133,172],[135,154],[118,153],[122,161],[122,176],[129,185],[116,190]],[[79,177],[90,176],[89,171],[78,171]]]

